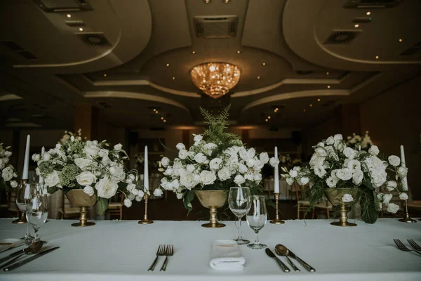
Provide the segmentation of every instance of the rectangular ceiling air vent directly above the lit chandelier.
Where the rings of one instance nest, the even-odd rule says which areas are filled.
[[[196,16],[194,31],[199,38],[236,37],[239,17],[236,15]]]

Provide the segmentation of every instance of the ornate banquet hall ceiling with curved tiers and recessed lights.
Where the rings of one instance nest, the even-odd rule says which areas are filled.
[[[303,128],[421,74],[419,1],[224,2],[1,1],[0,126],[71,128],[81,104],[114,126],[191,126],[231,104],[232,124]],[[208,20],[227,38],[198,37],[203,18],[234,34]],[[241,70],[218,100],[189,75],[207,62]]]

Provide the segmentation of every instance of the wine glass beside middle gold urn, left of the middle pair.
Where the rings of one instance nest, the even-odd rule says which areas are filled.
[[[239,218],[239,237],[234,239],[237,244],[243,245],[250,243],[249,240],[241,237],[241,218],[248,213],[251,206],[250,189],[249,188],[230,188],[228,195],[229,209]]]

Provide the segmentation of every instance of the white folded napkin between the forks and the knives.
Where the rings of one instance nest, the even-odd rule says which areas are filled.
[[[217,270],[239,270],[246,259],[241,256],[240,247],[234,240],[215,240],[210,253],[210,268]]]

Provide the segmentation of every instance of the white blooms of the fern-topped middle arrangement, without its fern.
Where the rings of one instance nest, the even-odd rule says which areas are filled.
[[[238,186],[258,185],[262,181],[263,166],[268,162],[272,166],[279,164],[278,159],[269,159],[267,152],[257,155],[254,148],[244,148],[241,141],[215,155],[213,152],[218,151],[218,145],[206,143],[200,134],[194,135],[194,145],[188,150],[182,143],[176,148],[178,157],[173,162],[167,157],[161,159],[163,168],[159,171],[164,177],[154,190],[156,196],[161,194],[161,188],[175,192],[178,199],[182,199],[186,190],[199,186],[232,182]]]

